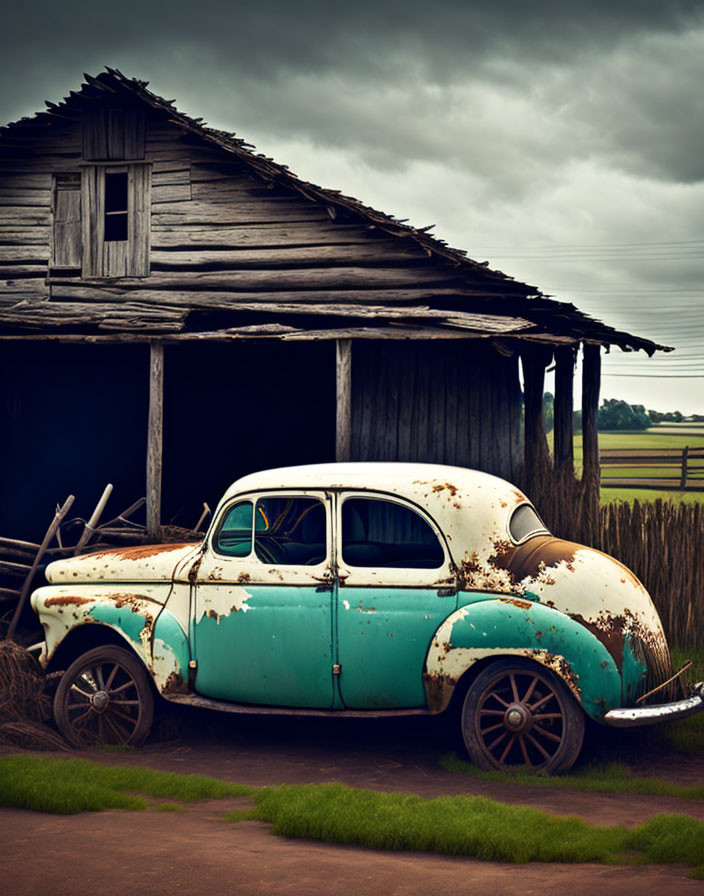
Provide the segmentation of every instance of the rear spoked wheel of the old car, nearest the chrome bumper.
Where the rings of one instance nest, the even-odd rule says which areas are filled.
[[[584,738],[584,713],[567,686],[529,660],[497,660],[465,698],[462,734],[472,761],[508,771],[567,771]]]

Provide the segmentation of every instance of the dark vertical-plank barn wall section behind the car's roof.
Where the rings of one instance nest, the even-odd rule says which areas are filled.
[[[355,343],[352,460],[472,467],[522,460],[518,361],[475,343]]]

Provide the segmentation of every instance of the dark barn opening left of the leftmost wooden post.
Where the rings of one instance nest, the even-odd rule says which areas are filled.
[[[40,541],[55,505],[87,517],[144,494],[149,349],[5,343],[0,352],[0,535]]]

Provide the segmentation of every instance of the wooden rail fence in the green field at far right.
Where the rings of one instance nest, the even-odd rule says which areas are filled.
[[[602,486],[704,491],[704,447],[605,448],[599,462]],[[622,475],[624,468],[632,475]],[[610,475],[614,469],[619,473]]]

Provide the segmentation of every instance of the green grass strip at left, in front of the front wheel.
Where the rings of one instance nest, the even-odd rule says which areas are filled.
[[[203,775],[106,766],[87,759],[0,757],[0,805],[18,809],[74,815],[99,809],[147,809],[146,796],[189,803],[249,793],[250,787]]]

